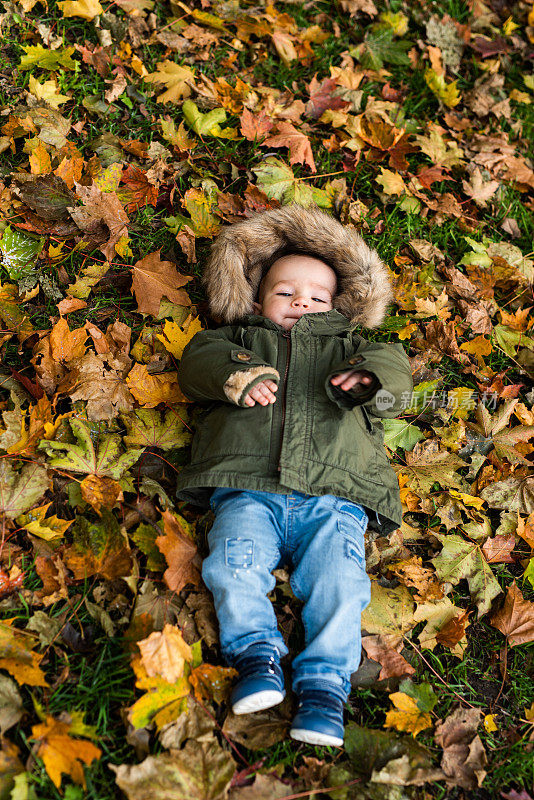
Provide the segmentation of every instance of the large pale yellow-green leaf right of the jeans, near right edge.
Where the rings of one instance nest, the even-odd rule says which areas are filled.
[[[501,587],[486,561],[480,545],[468,542],[455,534],[433,534],[440,540],[443,550],[432,559],[436,574],[442,581],[456,585],[467,580],[478,616],[487,614],[492,600],[501,593]]]

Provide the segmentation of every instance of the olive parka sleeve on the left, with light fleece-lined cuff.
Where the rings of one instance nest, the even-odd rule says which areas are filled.
[[[232,326],[200,331],[186,345],[178,383],[187,398],[248,408],[245,396],[257,383],[280,380],[276,369],[235,341],[236,331]]]

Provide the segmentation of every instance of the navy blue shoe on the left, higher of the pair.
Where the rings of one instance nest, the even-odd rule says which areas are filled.
[[[285,697],[280,653],[273,645],[259,642],[233,659],[239,679],[230,703],[234,714],[250,714],[277,706]]]

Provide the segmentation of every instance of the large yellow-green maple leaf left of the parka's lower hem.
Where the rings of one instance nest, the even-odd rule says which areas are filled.
[[[78,444],[42,440],[39,448],[44,450],[53,467],[86,475],[115,478],[118,480],[138,460],[143,448],[120,453],[121,437],[116,433],[103,433],[93,445],[89,426],[81,419],[69,420]],[[55,452],[64,451],[59,455]]]

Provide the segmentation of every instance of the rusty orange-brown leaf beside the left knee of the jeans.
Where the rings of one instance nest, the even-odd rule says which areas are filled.
[[[196,544],[184,533],[185,520],[170,511],[164,511],[162,518],[165,536],[158,536],[156,545],[169,565],[163,574],[165,583],[174,592],[180,592],[187,584],[198,586],[201,560]]]

